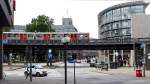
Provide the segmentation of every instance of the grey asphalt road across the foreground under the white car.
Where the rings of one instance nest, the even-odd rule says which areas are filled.
[[[64,68],[47,69],[47,77],[33,77],[33,81],[24,77],[24,68],[5,71],[6,78],[0,84],[64,84]],[[68,68],[68,84],[73,84],[73,68]],[[149,84],[149,78],[136,78],[128,75],[110,75],[94,72],[92,68],[76,69],[76,84]]]

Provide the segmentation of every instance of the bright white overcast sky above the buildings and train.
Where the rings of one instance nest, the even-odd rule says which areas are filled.
[[[26,25],[40,14],[53,18],[55,25],[61,25],[63,17],[71,17],[79,32],[89,32],[90,37],[98,38],[97,14],[127,1],[133,0],[16,0],[14,24]],[[150,14],[148,10],[150,6],[146,9]]]

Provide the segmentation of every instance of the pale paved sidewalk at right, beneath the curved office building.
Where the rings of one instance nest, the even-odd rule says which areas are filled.
[[[97,69],[97,68],[91,68],[91,71],[109,74],[109,75],[127,75],[131,77],[136,77],[136,71],[134,70],[133,67],[121,67],[117,69],[108,69],[108,71],[106,70],[101,71],[100,69]],[[142,71],[142,75],[143,75],[143,71]],[[149,71],[146,70],[145,75],[146,77],[150,77],[150,70]]]

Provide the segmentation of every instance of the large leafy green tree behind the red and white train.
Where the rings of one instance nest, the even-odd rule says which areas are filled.
[[[32,18],[31,23],[26,25],[27,32],[54,32],[52,28],[53,19],[45,15],[39,15],[37,18]]]

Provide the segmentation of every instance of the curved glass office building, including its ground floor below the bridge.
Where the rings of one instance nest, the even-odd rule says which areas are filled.
[[[98,34],[99,39],[105,38],[131,38],[131,16],[132,15],[143,15],[145,14],[145,8],[148,3],[143,1],[127,2],[109,7],[98,14]],[[116,60],[114,58],[114,53],[118,52],[118,59],[128,58],[130,60],[130,50],[128,51],[103,51],[105,53],[104,60],[109,60],[113,62]],[[109,53],[109,56],[106,56]]]

